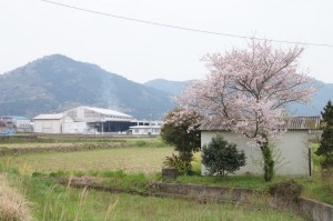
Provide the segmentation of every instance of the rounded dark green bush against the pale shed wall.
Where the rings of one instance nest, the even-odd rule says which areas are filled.
[[[202,163],[211,174],[218,173],[226,177],[245,165],[245,153],[243,150],[239,151],[236,144],[228,143],[221,135],[218,135],[203,147]]]

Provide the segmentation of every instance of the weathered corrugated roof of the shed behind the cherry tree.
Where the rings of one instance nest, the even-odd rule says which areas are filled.
[[[321,117],[291,117],[286,119],[283,128],[287,130],[317,130],[320,129]],[[225,125],[221,120],[205,120],[201,125],[202,131],[225,130]]]

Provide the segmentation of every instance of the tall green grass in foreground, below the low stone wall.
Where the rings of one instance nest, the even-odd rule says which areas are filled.
[[[262,208],[143,198],[72,189],[46,178],[20,177],[37,220],[302,220]]]

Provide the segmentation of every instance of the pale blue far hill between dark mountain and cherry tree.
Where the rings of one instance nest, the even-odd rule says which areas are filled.
[[[195,80],[190,81],[169,81],[164,79],[155,79],[144,83],[144,86],[152,87],[158,90],[162,90],[174,96],[179,96],[183,92],[186,86],[193,83]]]

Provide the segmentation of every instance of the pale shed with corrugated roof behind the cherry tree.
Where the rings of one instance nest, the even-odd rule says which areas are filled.
[[[295,117],[286,122],[287,131],[281,140],[274,143],[275,173],[278,175],[309,177],[312,173],[310,139],[317,131],[320,117]],[[246,165],[236,174],[262,174],[262,154],[246,143],[249,139],[241,134],[225,131],[219,121],[206,121],[201,125],[201,147],[211,142],[212,138],[221,134],[226,141],[235,143],[244,150]],[[202,164],[201,173],[208,174]]]

